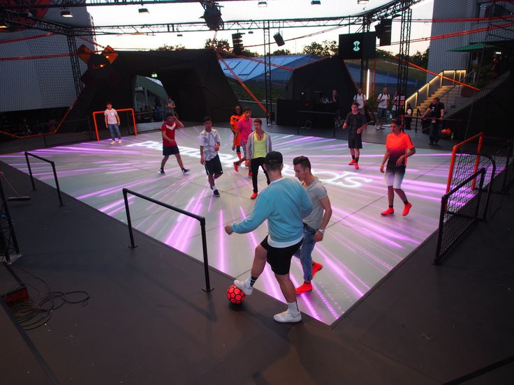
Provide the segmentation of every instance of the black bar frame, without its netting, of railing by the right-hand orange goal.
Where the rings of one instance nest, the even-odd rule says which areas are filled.
[[[458,190],[460,190],[460,188],[462,188],[463,186],[466,186],[467,183],[469,183],[470,181],[471,182],[475,181],[477,176],[479,176],[479,175],[480,175],[480,183],[479,183],[479,188],[478,188],[478,197],[476,197],[477,203],[476,203],[475,213],[474,213],[473,217],[470,218],[471,222],[468,223],[468,225],[462,230],[462,232],[460,232],[460,234],[457,234],[457,236],[455,237],[453,242],[450,243],[450,245],[446,248],[446,250],[441,252],[441,247],[442,247],[442,243],[443,243],[444,214],[447,212],[448,198],[450,197],[450,195],[453,195]],[[458,186],[455,186],[455,188],[453,188],[452,190],[450,190],[448,193],[446,193],[445,195],[443,195],[441,197],[441,211],[439,213],[439,229],[437,232],[436,256],[434,257],[434,261],[433,261],[433,263],[435,265],[441,264],[441,260],[443,259],[444,255],[446,255],[446,252],[448,252],[448,250],[450,250],[450,248],[452,248],[453,245],[455,245],[455,243],[457,243],[457,241],[459,241],[462,238],[462,235],[464,234],[464,232],[466,232],[467,229],[469,229],[469,227],[477,220],[478,211],[480,209],[480,197],[482,194],[484,179],[485,179],[485,167],[482,167],[477,172],[475,172],[471,176],[469,176],[465,181],[462,181],[462,183],[459,183]],[[491,186],[491,184],[492,183],[490,183],[490,186]],[[489,190],[490,190],[490,186],[489,186]],[[458,215],[458,214],[453,213],[453,215]]]

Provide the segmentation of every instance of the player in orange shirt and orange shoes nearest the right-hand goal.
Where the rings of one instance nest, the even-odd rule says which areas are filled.
[[[406,216],[409,214],[412,204],[409,203],[404,190],[402,190],[402,181],[407,166],[407,158],[416,153],[416,148],[412,144],[411,137],[402,133],[396,119],[391,120],[391,131],[392,133],[386,139],[386,153],[383,154],[382,164],[380,165],[380,172],[384,173],[383,167],[386,165],[386,161],[388,163],[384,181],[388,186],[389,208],[383,211],[381,215],[387,216],[395,213],[392,203],[395,199],[395,193],[397,193],[405,204],[403,216]]]

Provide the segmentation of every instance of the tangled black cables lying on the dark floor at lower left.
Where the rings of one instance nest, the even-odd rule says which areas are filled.
[[[22,269],[18,266],[11,266],[11,268],[18,269],[31,275],[32,278],[43,282],[47,292],[42,293],[36,286],[27,282],[22,282],[23,285],[33,288],[38,294],[38,301],[26,301],[17,303],[13,306],[13,312],[17,322],[24,330],[32,330],[43,326],[52,318],[52,312],[61,308],[66,303],[80,304],[86,306],[89,301],[89,293],[82,290],[74,290],[72,292],[52,292],[50,285],[45,280]],[[78,299],[70,299],[69,297],[80,295]]]

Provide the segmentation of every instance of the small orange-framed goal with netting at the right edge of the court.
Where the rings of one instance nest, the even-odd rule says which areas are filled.
[[[448,172],[448,183],[446,184],[446,194],[450,192],[452,186],[457,186],[470,175],[478,171],[483,139],[484,133],[479,133],[453,146],[450,171]],[[467,154],[466,151],[473,152],[473,155]],[[471,188],[475,188],[474,180]]]

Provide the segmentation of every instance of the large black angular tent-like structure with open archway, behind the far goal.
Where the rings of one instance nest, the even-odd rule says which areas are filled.
[[[85,88],[66,121],[84,119],[94,111],[104,110],[108,101],[115,108],[132,108],[136,75],[156,74],[175,100],[182,120],[202,121],[205,115],[212,116],[214,121],[226,120],[237,103],[212,50],[117,54],[112,64],[107,62],[102,68],[88,63],[89,69],[82,75]],[[63,128],[66,126],[71,127]]]

